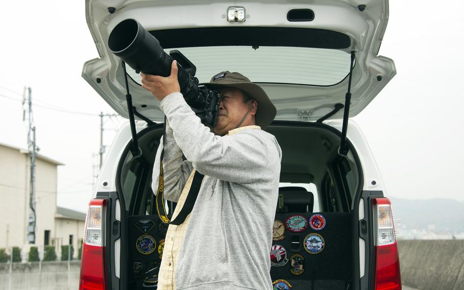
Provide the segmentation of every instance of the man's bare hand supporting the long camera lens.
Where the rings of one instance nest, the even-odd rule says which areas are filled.
[[[174,60],[171,64],[171,75],[169,77],[147,75],[143,72],[142,88],[149,90],[160,101],[170,93],[180,92],[181,86],[177,81],[177,62]]]

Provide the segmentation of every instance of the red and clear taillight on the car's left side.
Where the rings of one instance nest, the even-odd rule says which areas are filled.
[[[105,221],[106,200],[93,199],[85,221],[80,290],[106,289]]]

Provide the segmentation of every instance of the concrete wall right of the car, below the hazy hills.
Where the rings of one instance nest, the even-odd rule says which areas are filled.
[[[464,289],[464,240],[400,240],[398,246],[404,285]]]

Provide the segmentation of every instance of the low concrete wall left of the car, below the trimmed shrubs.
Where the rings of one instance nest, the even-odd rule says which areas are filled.
[[[0,289],[61,290],[79,288],[80,261],[0,264]]]

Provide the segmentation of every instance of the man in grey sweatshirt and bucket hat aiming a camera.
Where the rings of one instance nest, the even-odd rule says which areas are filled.
[[[172,219],[184,206],[195,172],[204,175],[192,211],[182,224],[169,225],[158,289],[272,289],[269,251],[281,151],[259,126],[272,122],[274,105],[244,76],[221,72],[207,84],[222,99],[213,133],[179,92],[175,61],[169,77],[142,74],[142,84],[167,117],[152,187],[157,192],[165,146],[164,197],[177,202]]]

